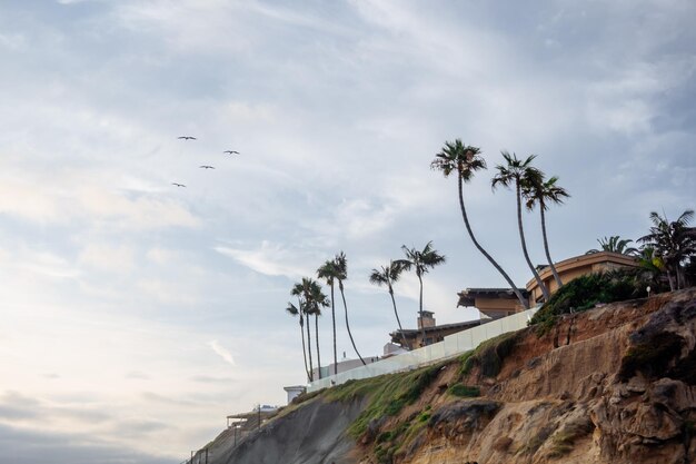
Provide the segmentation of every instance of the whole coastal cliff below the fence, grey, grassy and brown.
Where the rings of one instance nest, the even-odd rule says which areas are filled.
[[[612,304],[307,396],[209,462],[696,464],[695,346],[696,288]]]

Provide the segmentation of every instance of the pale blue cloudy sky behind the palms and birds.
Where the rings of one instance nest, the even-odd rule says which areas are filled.
[[[695,208],[695,18],[690,0],[0,1],[0,454],[179,463],[228,414],[285,404],[305,382],[290,288],[340,250],[364,356],[396,328],[368,276],[402,245],[447,257],[424,278],[438,323],[478,317],[457,292],[505,280],[429,168],[445,141],[481,148],[468,215],[519,286],[500,150],[571,195],[547,214],[557,260]],[[416,277],[395,292],[415,327]],[[322,364],[330,346],[325,313]]]

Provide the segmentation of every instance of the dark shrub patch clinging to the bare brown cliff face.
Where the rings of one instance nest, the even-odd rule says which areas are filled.
[[[684,338],[660,332],[649,336],[644,342],[628,348],[622,359],[618,375],[623,381],[642,372],[646,377],[662,377],[669,368],[670,361],[682,353]]]

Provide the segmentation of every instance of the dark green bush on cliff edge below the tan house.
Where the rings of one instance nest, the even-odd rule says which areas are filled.
[[[612,303],[634,296],[635,280],[623,272],[589,274],[564,285],[531,318],[538,325],[537,333],[547,333],[558,316],[593,308],[597,303]]]

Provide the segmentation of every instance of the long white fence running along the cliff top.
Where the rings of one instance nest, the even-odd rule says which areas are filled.
[[[307,392],[316,392],[331,385],[340,385],[348,381],[369,378],[382,374],[391,374],[399,371],[407,371],[435,361],[457,356],[476,348],[481,342],[497,337],[500,334],[519,330],[527,326],[527,322],[534,316],[537,308],[527,309],[511,316],[491,320],[484,325],[458,332],[445,337],[443,342],[414,349],[397,356],[378,361],[367,366],[341,372],[329,377],[324,377],[311,382],[307,386]]]

